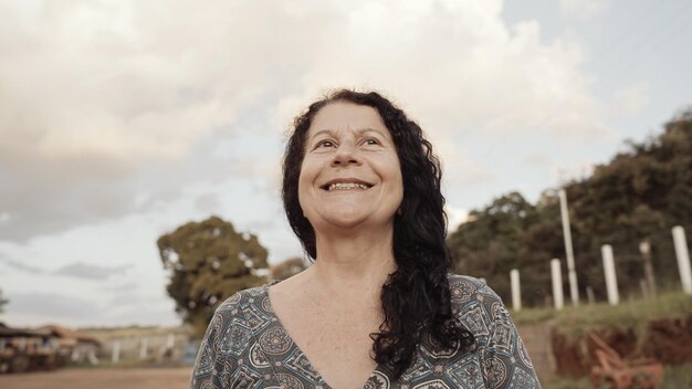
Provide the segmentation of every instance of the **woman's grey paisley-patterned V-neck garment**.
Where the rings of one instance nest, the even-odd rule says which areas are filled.
[[[471,351],[441,350],[429,336],[397,380],[378,367],[363,389],[541,388],[510,313],[485,283],[449,275],[453,314],[475,337]],[[272,309],[270,284],[223,302],[202,340],[190,389],[327,389]]]

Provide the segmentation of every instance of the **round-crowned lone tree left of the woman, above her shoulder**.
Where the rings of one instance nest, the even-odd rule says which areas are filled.
[[[230,222],[211,217],[189,222],[157,241],[166,287],[178,312],[202,335],[223,298],[266,282],[268,252],[258,236],[239,233]]]

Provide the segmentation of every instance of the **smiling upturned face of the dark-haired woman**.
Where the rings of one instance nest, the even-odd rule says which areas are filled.
[[[315,232],[390,228],[402,198],[397,150],[377,111],[348,102],[319,109],[298,179],[301,208]]]

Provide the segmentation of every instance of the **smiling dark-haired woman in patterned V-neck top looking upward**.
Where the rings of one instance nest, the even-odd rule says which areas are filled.
[[[449,275],[441,171],[377,93],[297,117],[283,201],[314,264],[219,306],[191,388],[539,388],[497,295]]]

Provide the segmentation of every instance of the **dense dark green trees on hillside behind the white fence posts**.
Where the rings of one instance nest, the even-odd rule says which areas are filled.
[[[692,236],[692,109],[665,124],[659,136],[629,141],[627,148],[591,176],[565,186],[583,298],[587,286],[605,298],[600,246],[606,243],[614,248],[621,296],[640,294],[639,243],[644,240],[658,288],[679,285],[670,229],[683,225],[688,241]],[[471,211],[469,222],[448,238],[455,271],[484,277],[508,299],[510,271],[520,269],[524,304],[548,306],[548,262],[565,256],[556,195],[546,190],[533,204],[511,192]],[[566,284],[566,274],[563,280]]]

